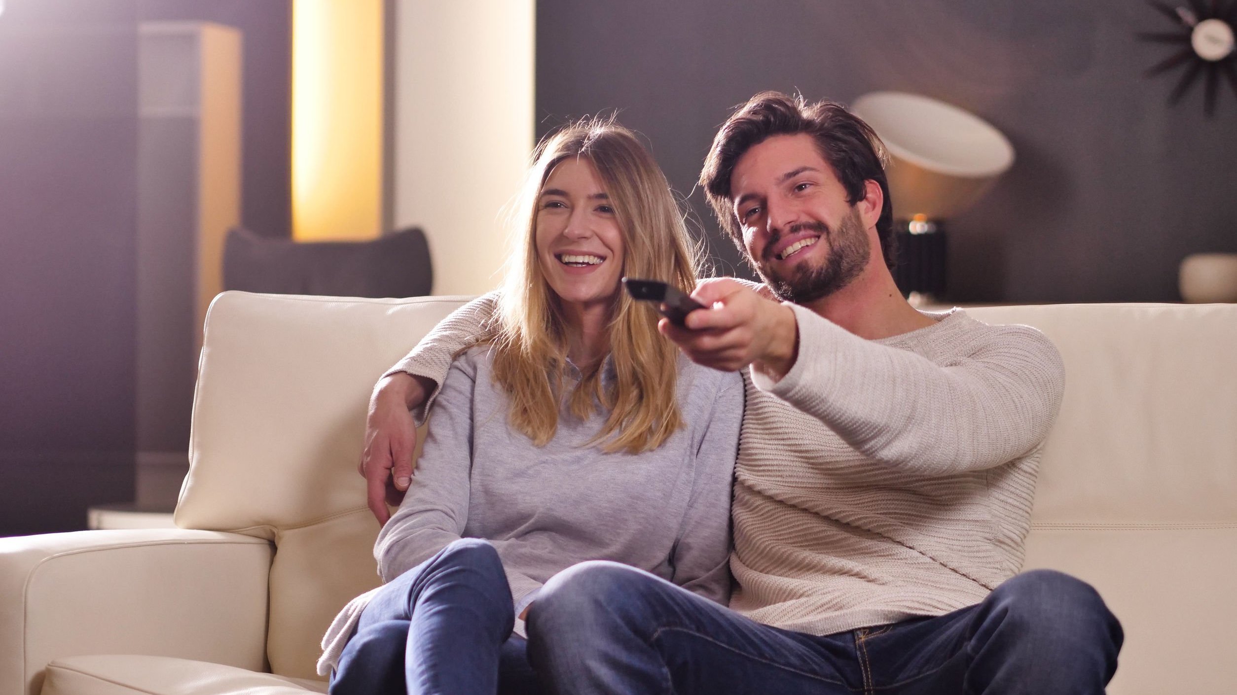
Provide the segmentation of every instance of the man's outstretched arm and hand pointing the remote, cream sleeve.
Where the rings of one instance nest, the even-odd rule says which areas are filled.
[[[988,326],[949,365],[865,340],[803,307],[729,279],[701,283],[709,310],[661,330],[696,362],[731,371],[826,423],[865,455],[925,475],[992,467],[1038,446],[1064,391],[1060,355],[1028,326]]]

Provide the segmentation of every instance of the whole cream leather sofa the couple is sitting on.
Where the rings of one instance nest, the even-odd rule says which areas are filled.
[[[0,695],[324,691],[320,634],[379,580],[370,387],[459,303],[220,296],[181,528],[0,539]],[[971,313],[1065,357],[1027,568],[1092,582],[1122,620],[1110,693],[1237,691],[1237,305]]]

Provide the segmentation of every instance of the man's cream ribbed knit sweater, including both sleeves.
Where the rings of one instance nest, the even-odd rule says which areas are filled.
[[[960,309],[873,341],[792,307],[794,367],[745,375],[731,607],[830,634],[981,601],[1022,565],[1056,349]],[[460,308],[391,371],[442,383],[494,309]]]

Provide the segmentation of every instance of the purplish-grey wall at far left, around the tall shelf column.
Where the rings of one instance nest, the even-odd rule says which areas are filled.
[[[244,220],[286,236],[289,11],[289,0],[6,0],[0,535],[84,528],[89,505],[134,498],[137,22],[245,32]]]

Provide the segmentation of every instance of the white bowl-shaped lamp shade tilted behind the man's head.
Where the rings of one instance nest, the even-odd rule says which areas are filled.
[[[889,152],[893,216],[948,219],[980,199],[1013,166],[999,130],[957,106],[919,94],[872,92],[851,110]]]

